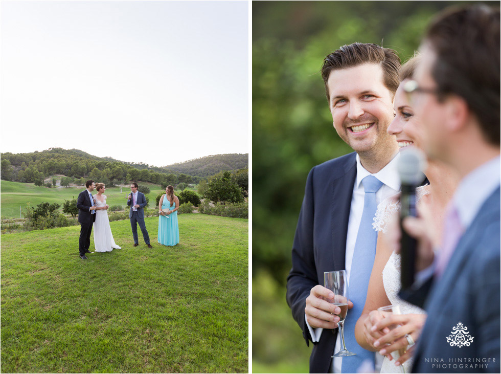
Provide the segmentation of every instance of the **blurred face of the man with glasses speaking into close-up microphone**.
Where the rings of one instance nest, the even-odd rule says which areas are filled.
[[[437,56],[429,46],[421,49],[421,61],[416,68],[414,79],[418,87],[424,90],[437,89],[437,83],[431,72]],[[422,147],[430,159],[444,159],[447,151],[447,130],[444,126],[446,111],[444,104],[439,102],[436,94],[413,92],[410,97],[415,114],[421,121]]]

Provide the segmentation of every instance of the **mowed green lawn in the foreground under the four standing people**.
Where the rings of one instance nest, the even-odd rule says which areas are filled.
[[[248,371],[248,220],[181,214],[175,247],[145,221],[152,249],[116,221],[88,260],[79,226],[1,236],[2,372]]]

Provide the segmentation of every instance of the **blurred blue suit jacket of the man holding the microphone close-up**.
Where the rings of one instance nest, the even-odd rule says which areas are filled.
[[[428,317],[416,347],[413,372],[501,372],[500,193],[498,187],[480,208],[441,278],[428,280],[415,292],[400,293],[400,297],[418,306],[426,300]],[[451,346],[447,342],[459,322],[473,337],[469,346]],[[465,359],[487,362],[472,361],[468,365],[473,366],[465,367]]]

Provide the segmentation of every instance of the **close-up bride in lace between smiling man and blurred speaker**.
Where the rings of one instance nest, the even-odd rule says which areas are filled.
[[[389,134],[396,136],[400,149],[423,148],[419,118],[416,118],[412,102],[409,102],[409,98],[412,101],[412,98],[420,93],[408,94],[410,86],[408,82],[413,82],[412,76],[418,63],[419,56],[415,56],[402,66],[400,85],[394,100],[395,119],[387,130]],[[404,86],[407,90],[404,90]],[[434,160],[427,161],[425,174],[429,185],[416,189],[416,200],[420,214],[429,217],[427,222],[434,228],[435,245],[438,246],[445,208],[459,178],[445,165]],[[410,372],[412,360],[409,358],[412,356],[412,346],[419,339],[426,320],[423,310],[398,297],[400,255],[393,251],[390,243],[393,243],[395,236],[399,235],[399,210],[399,195],[382,201],[378,206],[373,224],[374,229],[378,231],[376,257],[367,290],[366,304],[355,326],[358,344],[385,356],[381,367],[382,373],[402,372],[402,368],[399,367],[402,364],[403,372]],[[390,304],[398,305],[401,314],[388,314],[377,310],[379,307]],[[391,329],[392,327],[395,328]],[[396,360],[393,359],[392,352]]]

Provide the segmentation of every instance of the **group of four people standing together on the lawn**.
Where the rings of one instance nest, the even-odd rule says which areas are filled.
[[[111,252],[113,249],[121,249],[115,243],[109,225],[106,204],[106,186],[103,183],[95,183],[93,180],[85,182],[86,189],[78,195],[78,222],[80,223],[80,237],[78,248],[80,258],[87,259],[86,253],[93,253],[89,250],[90,234],[94,227],[94,247],[95,252]],[[96,189],[97,193],[92,194]],[[147,205],[146,196],[138,191],[138,184],[133,182],[130,185],[130,194],[127,196],[129,208],[130,225],[134,247],[139,246],[138,224],[143,234],[143,239],[148,248],[153,248],[150,244],[150,237],[144,222],[144,208]],[[167,186],[165,194],[158,204],[158,243],[164,246],[175,246],[179,243],[179,227],[177,221],[177,210],[179,209],[179,199],[174,195],[174,187]]]

